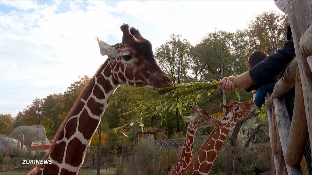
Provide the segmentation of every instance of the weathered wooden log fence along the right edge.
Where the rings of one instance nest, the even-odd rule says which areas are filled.
[[[268,98],[272,108],[267,108],[267,116],[272,173],[300,175],[303,174],[300,163],[307,136],[312,145],[312,5],[311,0],[289,1],[284,12],[290,21],[296,58]],[[294,110],[290,122],[285,100],[281,97],[294,86]]]

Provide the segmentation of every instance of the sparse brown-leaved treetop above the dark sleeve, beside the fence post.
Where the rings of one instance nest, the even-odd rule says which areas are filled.
[[[250,53],[255,50],[267,54],[281,48],[285,42],[288,17],[273,11],[262,12],[248,24]]]

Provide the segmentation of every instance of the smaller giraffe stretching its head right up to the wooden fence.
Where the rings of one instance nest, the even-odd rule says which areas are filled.
[[[183,169],[179,175],[209,174],[219,150],[222,148],[230,130],[238,121],[250,115],[256,106],[252,101],[231,102],[230,105],[221,104],[226,109],[225,116],[221,119],[221,125],[215,128],[198,150],[195,158],[189,166]]]

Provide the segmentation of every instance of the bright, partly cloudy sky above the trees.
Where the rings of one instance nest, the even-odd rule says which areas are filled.
[[[215,30],[236,31],[268,1],[0,1],[0,114],[15,116],[36,97],[92,77],[106,56],[96,37],[120,43],[119,27],[140,30],[153,50],[180,34],[192,45]]]

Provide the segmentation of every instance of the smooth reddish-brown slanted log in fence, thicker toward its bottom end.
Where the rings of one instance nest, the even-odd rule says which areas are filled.
[[[295,105],[290,131],[285,162],[290,166],[297,166],[301,163],[304,145],[308,136],[308,125],[305,117],[299,70],[297,70],[296,76]]]

